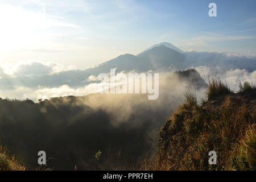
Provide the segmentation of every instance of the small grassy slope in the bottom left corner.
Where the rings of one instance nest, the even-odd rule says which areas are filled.
[[[26,167],[20,164],[15,155],[11,156],[5,147],[0,145],[0,171],[25,171]]]

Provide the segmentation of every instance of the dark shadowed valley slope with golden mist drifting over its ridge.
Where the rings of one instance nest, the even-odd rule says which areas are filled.
[[[37,152],[44,150],[49,168],[128,169],[150,153],[149,138],[157,142],[185,86],[200,94],[207,87],[193,70],[159,75],[158,100],[148,100],[147,94],[99,93],[38,103],[0,100],[1,141],[31,168],[38,167]],[[99,162],[94,158],[98,150]]]

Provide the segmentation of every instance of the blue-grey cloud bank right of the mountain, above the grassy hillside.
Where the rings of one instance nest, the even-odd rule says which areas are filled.
[[[208,77],[220,77],[235,92],[237,79],[256,85],[256,57],[236,52],[185,52],[188,68],[196,69],[208,82]]]

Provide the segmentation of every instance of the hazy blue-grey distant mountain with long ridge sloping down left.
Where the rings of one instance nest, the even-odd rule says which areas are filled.
[[[163,53],[166,54],[166,56],[164,56]],[[154,57],[154,54],[159,57],[158,61],[151,59],[151,57]],[[170,59],[170,57],[172,57],[172,59]],[[14,86],[33,88],[37,86],[47,86],[53,88],[61,85],[69,85],[72,88],[79,88],[80,86],[86,86],[92,82],[88,79],[89,76],[97,76],[100,73],[109,73],[110,69],[114,68],[117,68],[116,72],[137,71],[141,73],[150,70],[168,71],[168,68],[171,66],[171,62],[176,61],[176,58],[179,59],[177,63],[184,62],[184,56],[179,52],[171,48],[167,48],[166,46],[159,46],[144,52],[140,56],[128,53],[125,55],[119,55],[118,57],[106,61],[97,67],[85,69],[84,71],[65,71],[52,75],[3,77],[0,79],[0,89],[13,89]],[[175,67],[177,64],[175,63],[172,65]],[[180,67],[178,67],[178,69],[180,69]]]

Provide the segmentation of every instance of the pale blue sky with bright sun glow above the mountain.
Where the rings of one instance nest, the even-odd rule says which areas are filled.
[[[43,61],[86,69],[160,42],[256,56],[255,0],[0,0],[0,22],[2,67]]]

